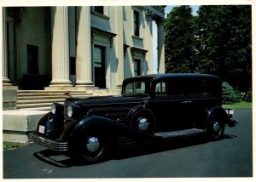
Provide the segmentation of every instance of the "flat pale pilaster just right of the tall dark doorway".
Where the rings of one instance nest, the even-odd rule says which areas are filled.
[[[117,88],[121,88],[123,80],[125,78],[125,67],[124,67],[124,33],[123,33],[123,6],[117,6],[116,9],[116,54],[117,54]]]

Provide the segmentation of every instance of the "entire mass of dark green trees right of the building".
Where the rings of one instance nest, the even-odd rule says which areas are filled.
[[[167,14],[166,72],[209,73],[242,92],[252,88],[252,6],[201,6],[197,13],[179,6]]]

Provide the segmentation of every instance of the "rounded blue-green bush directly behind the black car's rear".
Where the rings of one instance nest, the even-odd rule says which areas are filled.
[[[222,83],[222,101],[224,104],[232,104],[237,101],[236,92],[228,82]],[[239,94],[240,97],[240,94]]]

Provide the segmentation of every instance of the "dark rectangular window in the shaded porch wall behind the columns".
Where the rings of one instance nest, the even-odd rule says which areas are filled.
[[[38,74],[38,46],[27,45],[27,74]]]

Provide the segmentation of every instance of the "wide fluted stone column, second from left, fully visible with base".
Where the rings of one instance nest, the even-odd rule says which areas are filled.
[[[71,87],[69,80],[68,7],[52,8],[52,81],[49,87]]]

